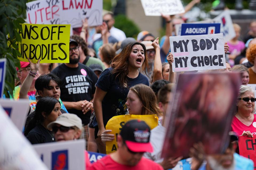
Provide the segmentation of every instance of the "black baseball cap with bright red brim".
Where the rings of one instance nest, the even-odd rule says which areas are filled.
[[[153,152],[149,142],[150,128],[141,120],[130,120],[123,126],[120,135],[129,150],[133,152]]]

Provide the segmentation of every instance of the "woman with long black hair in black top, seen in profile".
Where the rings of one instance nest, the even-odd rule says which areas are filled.
[[[53,132],[46,127],[61,115],[60,102],[52,97],[42,97],[36,105],[35,116],[28,122],[24,135],[31,144],[54,142]]]

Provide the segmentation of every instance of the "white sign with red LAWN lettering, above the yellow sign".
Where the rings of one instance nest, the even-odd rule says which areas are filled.
[[[102,24],[102,0],[37,0],[27,3],[27,23],[71,24],[82,27],[88,18],[89,26]]]

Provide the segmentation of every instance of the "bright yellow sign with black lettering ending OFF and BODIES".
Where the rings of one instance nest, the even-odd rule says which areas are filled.
[[[21,24],[21,43],[17,43],[20,61],[69,63],[70,25]]]

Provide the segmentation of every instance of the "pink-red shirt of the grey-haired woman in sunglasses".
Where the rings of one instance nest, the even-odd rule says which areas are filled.
[[[250,131],[253,135],[256,135],[256,114],[254,114],[254,119],[250,126],[246,126],[234,116],[231,124],[231,131],[236,132],[238,136],[242,135],[243,131]]]

